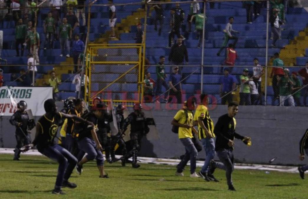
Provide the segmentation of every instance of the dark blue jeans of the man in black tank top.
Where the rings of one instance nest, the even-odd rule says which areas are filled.
[[[71,177],[71,173],[77,164],[76,157],[56,144],[47,147],[38,145],[37,148],[40,153],[59,163],[56,187],[61,187],[63,180],[67,181]]]

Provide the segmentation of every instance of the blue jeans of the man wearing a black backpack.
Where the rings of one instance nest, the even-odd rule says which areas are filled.
[[[190,160],[190,173],[193,174],[196,171],[196,157],[198,155],[198,151],[191,138],[180,138],[180,141],[185,146],[185,155],[183,161],[181,161],[178,166],[177,172],[182,173],[185,165]]]

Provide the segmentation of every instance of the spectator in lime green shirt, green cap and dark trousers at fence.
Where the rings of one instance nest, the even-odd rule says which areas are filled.
[[[245,68],[243,74],[240,76],[240,105],[251,105],[249,81],[252,81],[252,79],[249,79],[248,71],[249,70]]]

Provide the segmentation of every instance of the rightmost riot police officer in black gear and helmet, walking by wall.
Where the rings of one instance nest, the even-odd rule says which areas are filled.
[[[122,126],[122,131],[125,132],[127,126],[131,124],[130,138],[132,150],[130,150],[123,157],[121,157],[121,162],[122,166],[125,166],[125,162],[127,161],[127,159],[129,157],[132,157],[132,167],[139,168],[140,165],[137,164],[137,156],[138,151],[140,151],[141,139],[143,135],[147,134],[150,131],[150,129],[148,128],[144,112],[142,112],[141,104],[135,103],[133,109],[134,112],[128,115],[128,117],[124,120],[124,124]]]

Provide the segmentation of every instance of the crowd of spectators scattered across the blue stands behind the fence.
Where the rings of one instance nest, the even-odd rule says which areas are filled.
[[[33,74],[37,72],[36,66],[39,65],[39,48],[43,46],[43,49],[53,49],[54,41],[59,40],[61,46],[61,54],[59,56],[72,57],[75,65],[75,73],[80,71],[79,64],[80,60],[83,59],[84,51],[84,41],[80,39],[79,28],[86,25],[85,18],[85,2],[84,0],[68,0],[63,2],[62,0],[50,0],[49,5],[53,6],[50,12],[43,20],[43,31],[45,34],[45,41],[40,41],[39,33],[36,31],[35,24],[38,19],[36,16],[39,14],[39,8],[36,8],[36,3],[32,1],[19,1],[11,0],[10,2],[0,1],[0,8],[7,8],[0,10],[0,28],[3,27],[3,21],[14,20],[15,29],[15,48],[16,56],[24,56],[24,51],[27,50],[28,56],[28,70],[21,70],[21,76],[16,77],[16,74],[12,75],[12,79],[16,79],[18,82],[24,82],[22,85],[30,86]],[[276,47],[276,42],[281,38],[282,25],[286,23],[285,11],[287,9],[287,0],[271,0],[271,32],[273,39],[272,46]],[[116,38],[115,35],[115,24],[117,22],[116,7],[113,5],[112,0],[108,0],[109,3],[109,26],[111,28],[110,38]],[[260,16],[261,8],[266,7],[266,2],[264,1],[245,1],[243,2],[243,7],[247,11],[247,23],[253,23],[253,21]],[[211,2],[210,9],[214,7],[214,2]],[[166,5],[166,7],[169,5]],[[165,5],[156,4],[152,5],[155,10],[154,30],[158,31],[158,35],[161,35],[164,21],[164,7]],[[170,9],[170,8],[169,8]],[[181,27],[185,20],[185,12],[181,8],[180,3],[176,3],[175,7],[170,9],[171,20],[170,20],[170,32],[168,36],[167,48],[171,48],[170,54],[168,56],[168,64],[174,65],[171,69],[171,73],[167,75],[164,69],[165,57],[160,56],[160,61],[156,66],[157,79],[153,80],[151,74],[146,72],[146,77],[144,80],[144,94],[146,95],[146,101],[156,101],[160,102],[160,98],[156,98],[161,94],[161,89],[164,87],[169,90],[163,94],[163,101],[182,103],[181,99],[181,83],[185,83],[185,76],[182,73],[183,65],[188,64],[189,52],[183,43],[186,38],[183,36],[184,32],[181,33]],[[81,15],[81,16],[80,16]],[[192,30],[192,24],[195,24],[195,32],[198,33],[199,43],[198,48],[201,47],[202,34],[203,34],[203,20],[207,20],[207,16],[203,14],[203,5],[192,0],[190,4],[189,13],[187,14],[187,24],[188,32]],[[263,92],[261,90],[261,76],[265,73],[262,66],[259,65],[258,59],[255,58],[253,63],[253,74],[249,76],[248,69],[244,69],[243,74],[237,80],[232,75],[233,67],[235,66],[236,59],[238,57],[236,51],[236,45],[238,41],[237,30],[233,30],[232,24],[234,18],[229,17],[229,22],[226,24],[224,32],[224,42],[217,52],[217,56],[220,56],[223,50],[226,51],[226,58],[223,65],[228,67],[221,67],[221,73],[223,74],[220,79],[221,89],[221,103],[225,104],[227,101],[230,102],[233,99],[234,90],[236,84],[240,84],[240,105],[262,105],[263,102]],[[77,31],[78,30],[78,31]],[[176,42],[175,36],[177,36]],[[136,43],[144,42],[144,32],[141,23],[137,24],[137,32],[135,37]],[[233,40],[233,43],[229,43],[229,40]],[[19,50],[19,46],[21,50]],[[228,48],[226,48],[228,46]],[[278,53],[277,53],[278,54]],[[282,60],[275,54],[274,66],[283,66]],[[0,60],[1,61],[1,60]],[[146,64],[148,65],[148,64]],[[306,65],[308,68],[308,65]],[[33,72],[34,71],[34,72]],[[307,69],[308,71],[308,69]],[[295,95],[291,95],[301,88],[298,75],[303,80],[303,84],[307,85],[308,78],[306,70],[300,70],[298,73],[292,73],[290,75],[287,73],[287,69],[282,67],[277,67],[273,69],[271,77],[273,77],[273,90],[274,90],[274,100],[279,100],[280,105],[283,105],[284,101],[288,101],[289,105],[298,105],[301,103],[299,101],[300,92]],[[0,71],[1,73],[1,71]],[[22,75],[24,74],[24,75]],[[27,75],[28,74],[28,75]],[[79,75],[79,76],[78,76]],[[0,85],[3,84],[3,78],[0,75]],[[78,73],[73,83],[76,84],[76,91],[78,92],[78,85],[80,82],[80,74]],[[286,83],[287,82],[287,83]],[[46,83],[54,88],[54,98],[58,97],[58,85],[61,81],[56,78],[55,71],[51,72],[51,78],[49,82]],[[304,94],[304,105],[306,105],[306,96],[308,89],[304,87],[302,90],[305,91]],[[150,97],[149,97],[150,96]],[[155,97],[154,97],[155,96]],[[169,96],[169,97],[168,97]],[[171,98],[170,96],[174,96]]]

